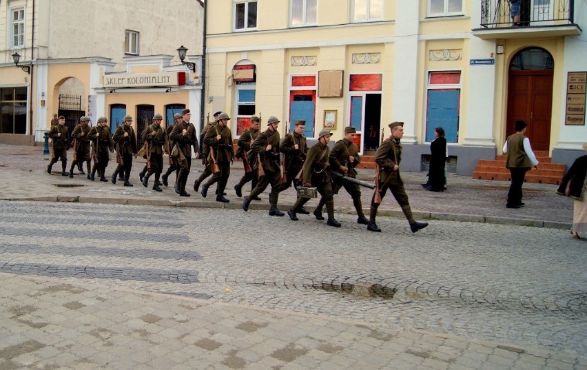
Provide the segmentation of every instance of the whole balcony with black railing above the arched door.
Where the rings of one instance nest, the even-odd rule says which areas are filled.
[[[508,0],[481,0],[480,39],[533,39],[581,34],[573,21],[573,0],[520,0],[520,21],[513,25]]]

